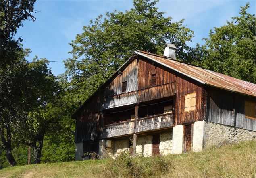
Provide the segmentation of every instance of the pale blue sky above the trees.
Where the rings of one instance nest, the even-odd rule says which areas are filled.
[[[160,0],[156,5],[159,11],[166,12],[173,21],[185,19],[184,25],[194,31],[193,42],[203,44],[202,38],[209,30],[226,24],[231,17],[237,16],[240,6],[250,2],[249,12],[255,14],[255,1],[250,0]],[[49,61],[60,61],[71,57],[69,42],[81,33],[83,26],[91,19],[106,11],[125,11],[133,7],[132,0],[38,0],[35,2],[36,21],[25,21],[18,29],[17,37],[23,38],[23,47],[30,48],[35,55]],[[62,62],[50,63],[54,75],[65,71]]]

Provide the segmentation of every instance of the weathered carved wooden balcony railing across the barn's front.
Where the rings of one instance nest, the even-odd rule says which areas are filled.
[[[151,131],[156,129],[163,129],[173,126],[173,114],[161,114],[150,117],[144,117],[137,119],[137,127],[135,132]],[[117,136],[124,136],[133,134],[134,131],[134,120],[125,121],[121,123],[114,123],[105,125],[103,127],[100,138],[111,138]]]

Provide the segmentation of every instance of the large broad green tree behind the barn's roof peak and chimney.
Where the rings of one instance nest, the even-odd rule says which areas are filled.
[[[144,50],[163,54],[166,41],[177,46],[177,58],[183,59],[193,31],[183,26],[183,20],[171,22],[164,12],[158,12],[158,1],[134,0],[130,10],[106,12],[71,42],[73,58],[65,65],[71,77],[76,102],[84,101],[106,81],[134,51]],[[81,61],[75,61],[82,59]]]

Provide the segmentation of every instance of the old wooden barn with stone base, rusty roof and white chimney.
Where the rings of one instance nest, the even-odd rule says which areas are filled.
[[[253,83],[176,61],[172,44],[164,56],[136,51],[73,114],[75,160],[256,140],[255,96]]]

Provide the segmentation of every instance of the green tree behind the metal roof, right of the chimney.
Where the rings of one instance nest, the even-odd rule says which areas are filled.
[[[210,30],[205,44],[198,46],[198,55],[193,61],[203,67],[255,83],[255,15],[247,13],[249,3],[241,7],[240,16],[232,17],[231,22]],[[199,53],[198,53],[199,54]]]

